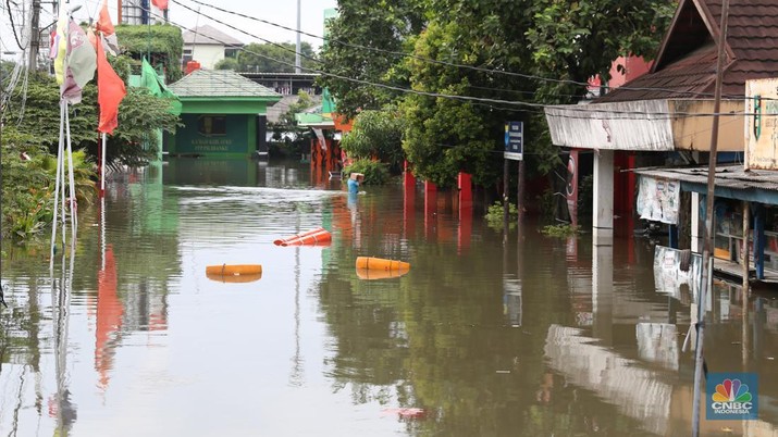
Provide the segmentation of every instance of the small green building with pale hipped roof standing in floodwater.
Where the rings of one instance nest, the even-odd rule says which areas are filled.
[[[268,105],[281,95],[227,70],[197,70],[169,85],[181,99],[175,135],[165,134],[170,155],[245,158],[264,139]]]

